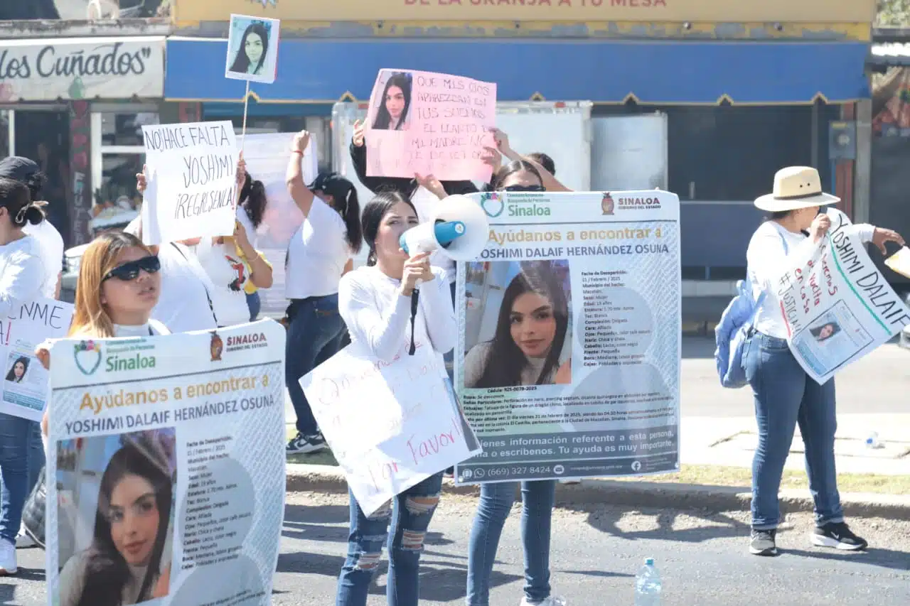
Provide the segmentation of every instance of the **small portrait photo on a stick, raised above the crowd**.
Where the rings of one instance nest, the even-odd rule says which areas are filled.
[[[277,19],[230,15],[225,77],[271,84],[278,63]]]

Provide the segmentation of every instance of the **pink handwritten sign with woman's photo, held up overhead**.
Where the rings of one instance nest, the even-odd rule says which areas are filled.
[[[434,175],[489,181],[484,146],[495,146],[496,85],[462,76],[379,70],[369,97],[369,177]]]

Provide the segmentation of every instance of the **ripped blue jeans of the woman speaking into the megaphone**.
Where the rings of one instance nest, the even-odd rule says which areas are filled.
[[[442,474],[437,473],[369,517],[350,494],[348,558],[339,576],[336,606],[366,606],[369,582],[379,569],[383,543],[388,543],[389,550],[386,601],[389,606],[418,606],[420,552],[441,490]]]

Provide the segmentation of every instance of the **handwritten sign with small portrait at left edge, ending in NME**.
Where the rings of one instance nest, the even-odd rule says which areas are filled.
[[[50,395],[50,375],[35,358],[35,349],[47,338],[63,338],[73,319],[73,306],[52,298],[24,303],[0,322],[0,360],[3,361],[3,398],[0,412],[41,420]]]

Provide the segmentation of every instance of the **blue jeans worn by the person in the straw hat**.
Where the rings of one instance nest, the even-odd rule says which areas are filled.
[[[780,522],[777,493],[797,423],[805,445],[815,523],[844,521],[834,468],[834,379],[819,385],[805,374],[783,338],[762,333],[746,343],[743,368],[755,396],[758,421],[758,449],[752,462],[753,528],[775,529]]]

